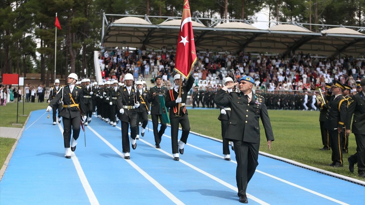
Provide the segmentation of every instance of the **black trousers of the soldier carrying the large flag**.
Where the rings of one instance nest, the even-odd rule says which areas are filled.
[[[180,113],[181,114],[181,113]],[[188,136],[190,133],[190,123],[189,118],[187,114],[182,114],[181,117],[173,117],[170,118],[170,124],[171,124],[171,146],[172,146],[172,154],[179,153],[179,147],[177,145],[178,140],[177,136],[179,133],[179,124],[181,125],[181,129],[183,130],[181,133],[181,142],[184,142],[186,144],[188,140]]]

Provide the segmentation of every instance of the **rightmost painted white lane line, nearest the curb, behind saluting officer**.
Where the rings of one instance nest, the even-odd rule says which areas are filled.
[[[146,129],[149,129],[149,128],[146,128]],[[152,131],[153,131],[153,129],[149,129],[149,130],[152,130]],[[170,137],[170,136],[165,135],[165,134],[163,134],[163,135],[164,135],[165,137],[167,137],[167,138],[171,139],[171,137]],[[202,149],[202,148],[200,148],[200,147],[194,146],[194,145],[189,144],[189,143],[187,143],[187,145],[188,145],[188,146],[191,146],[191,147],[193,147],[193,148],[196,148],[197,150],[200,150],[200,151],[203,151],[203,152],[206,152],[206,153],[208,153],[208,154],[211,154],[211,155],[214,155],[214,156],[217,156],[217,157],[219,157],[219,158],[224,159],[224,157],[223,157],[223,156],[220,156],[220,155],[215,154],[215,153],[213,153],[213,152],[210,152],[210,151],[208,151],[208,150],[204,150],[204,149]],[[237,162],[236,162],[235,160],[231,160],[230,162],[237,164]],[[299,188],[299,189],[301,189],[301,190],[304,190],[304,191],[306,191],[306,192],[309,192],[309,193],[315,194],[315,195],[317,195],[317,196],[319,196],[319,197],[326,198],[327,200],[330,200],[330,201],[333,201],[333,202],[336,202],[336,203],[338,203],[338,204],[342,204],[342,205],[349,205],[349,204],[347,204],[347,203],[345,203],[345,202],[343,202],[343,201],[339,201],[339,200],[337,200],[337,199],[331,198],[331,197],[326,196],[326,195],[324,195],[324,194],[321,194],[321,193],[315,192],[315,191],[313,191],[313,190],[311,190],[311,189],[307,189],[306,187],[303,187],[303,186],[297,185],[297,184],[295,184],[295,183],[289,182],[289,181],[287,181],[287,180],[285,180],[285,179],[281,179],[281,178],[279,178],[279,177],[275,177],[274,175],[271,175],[271,174],[265,173],[265,172],[260,171],[260,170],[256,170],[256,171],[257,171],[258,173],[260,173],[260,174],[264,174],[264,175],[266,175],[266,176],[268,176],[268,177],[271,177],[271,178],[273,178],[273,179],[277,179],[278,181],[281,181],[281,182],[287,183],[288,185],[291,185],[291,186],[297,187],[297,188]]]

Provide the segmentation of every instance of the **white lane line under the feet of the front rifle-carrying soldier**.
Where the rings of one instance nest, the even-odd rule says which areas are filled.
[[[117,148],[115,148],[110,142],[108,142],[105,138],[103,138],[98,132],[96,132],[93,128],[87,126],[98,138],[100,138],[105,144],[107,144],[114,152],[116,152],[121,158],[124,158],[122,152],[120,152]],[[120,128],[121,129],[121,128]],[[137,170],[143,177],[145,177],[148,181],[150,181],[158,190],[160,190],[163,194],[165,194],[172,202],[178,205],[184,205],[182,201],[180,201],[176,196],[174,196],[171,192],[169,192],[164,186],[158,183],[154,178],[152,178],[149,174],[143,171],[138,165],[136,165],[132,160],[126,159],[135,170]]]

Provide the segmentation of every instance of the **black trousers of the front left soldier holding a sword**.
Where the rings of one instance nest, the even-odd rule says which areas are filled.
[[[77,140],[78,135],[80,134],[81,116],[74,118],[62,117],[62,123],[64,124],[64,145],[65,148],[69,148],[71,142],[71,128],[73,139]]]

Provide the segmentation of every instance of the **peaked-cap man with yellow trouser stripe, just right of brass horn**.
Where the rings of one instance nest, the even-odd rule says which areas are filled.
[[[344,131],[347,116],[347,100],[343,97],[342,92],[345,86],[337,81],[328,91],[327,100],[328,111],[324,126],[328,130],[330,145],[332,149],[332,163],[328,166],[342,167],[342,144],[341,132]],[[332,95],[334,97],[332,97]],[[333,98],[333,100],[331,99]]]

